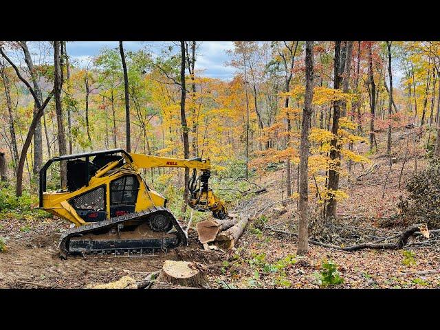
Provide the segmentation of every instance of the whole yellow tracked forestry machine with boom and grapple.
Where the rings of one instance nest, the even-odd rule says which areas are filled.
[[[46,191],[47,168],[54,162],[66,162],[67,187]],[[156,157],[123,149],[55,157],[40,170],[39,197],[40,208],[75,225],[61,236],[61,256],[142,255],[187,245],[188,236],[166,208],[166,198],[140,175],[142,168],[154,167],[192,169],[188,205],[210,211],[217,219],[227,217],[225,203],[208,188],[209,159]]]

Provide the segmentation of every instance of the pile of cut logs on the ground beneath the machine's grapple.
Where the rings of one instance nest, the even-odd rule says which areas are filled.
[[[208,219],[201,221],[196,226],[199,241],[203,246],[214,242],[220,248],[232,249],[243,234],[248,222],[249,217],[247,215],[237,216],[236,214],[231,214],[229,219],[225,220]]]

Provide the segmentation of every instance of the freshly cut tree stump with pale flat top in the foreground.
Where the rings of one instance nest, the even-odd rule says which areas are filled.
[[[157,277],[157,281],[185,287],[203,287],[206,285],[204,270],[206,268],[198,263],[167,260],[162,267],[162,272]]]

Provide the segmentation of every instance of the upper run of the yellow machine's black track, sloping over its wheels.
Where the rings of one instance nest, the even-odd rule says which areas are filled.
[[[90,223],[89,225],[81,225],[80,227],[71,228],[64,232],[61,236],[58,250],[60,251],[63,259],[67,259],[67,256],[69,254],[69,241],[72,237],[80,236],[81,234],[87,234],[89,232],[94,232],[97,229],[107,227],[111,228],[113,227],[113,225],[118,225],[119,223],[124,223],[125,221],[148,217],[155,212],[167,212],[170,218],[173,220],[173,225],[175,226],[175,228],[177,228],[177,234],[180,236],[179,241],[181,242],[181,245],[188,245],[188,236],[186,236],[186,233],[181,228],[179,222],[177,222],[177,220],[175,219],[173,213],[171,213],[168,208],[164,208],[162,206],[153,206],[153,208],[147,208],[146,210],[142,210],[140,212],[122,214],[119,217],[113,217],[104,221]]]

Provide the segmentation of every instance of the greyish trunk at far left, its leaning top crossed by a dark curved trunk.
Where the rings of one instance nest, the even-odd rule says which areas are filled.
[[[26,41],[20,41],[19,45],[21,49],[23,50],[23,53],[25,55],[25,63],[28,65],[29,73],[32,78],[32,85],[34,86],[34,91],[39,98],[40,104],[43,103],[43,96],[41,94],[41,89],[39,85],[39,77],[36,73],[36,69],[34,67],[34,63],[32,62],[32,56],[29,52],[28,44]],[[36,116],[36,113],[38,112],[38,107],[35,104],[34,105],[34,117]],[[34,175],[38,175],[39,170],[41,166],[43,166],[43,139],[41,137],[42,130],[41,130],[41,119],[37,121],[35,131],[34,131]]]

